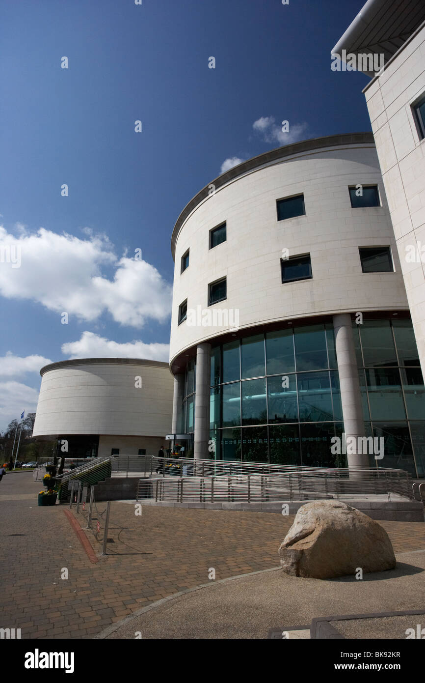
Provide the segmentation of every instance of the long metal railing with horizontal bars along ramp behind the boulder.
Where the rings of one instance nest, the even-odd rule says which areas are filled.
[[[254,503],[391,495],[411,499],[409,473],[395,469],[316,469],[284,473],[139,479],[137,500]]]

